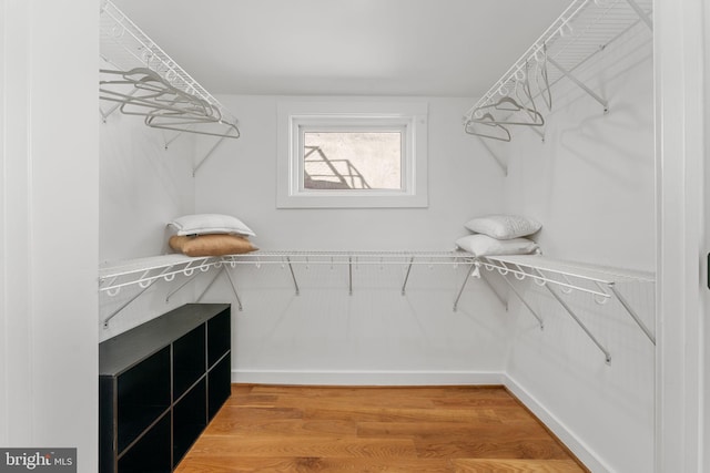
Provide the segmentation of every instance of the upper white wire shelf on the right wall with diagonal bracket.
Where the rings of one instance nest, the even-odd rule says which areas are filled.
[[[515,96],[526,79],[535,96],[549,94],[549,88],[562,78],[571,79],[607,111],[606,101],[571,72],[639,22],[652,28],[652,0],[575,0],[466,112],[464,125],[467,127],[474,121],[480,123],[481,107],[495,104],[501,97]],[[552,66],[548,68],[548,64]],[[529,101],[529,96],[526,100]]]

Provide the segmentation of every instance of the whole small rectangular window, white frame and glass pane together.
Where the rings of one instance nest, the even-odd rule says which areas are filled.
[[[426,207],[427,105],[278,105],[277,206]]]

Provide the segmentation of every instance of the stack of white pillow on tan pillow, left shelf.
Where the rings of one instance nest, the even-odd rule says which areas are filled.
[[[184,215],[168,224],[176,230],[170,247],[187,256],[223,256],[255,251],[256,236],[242,220],[222,214]]]

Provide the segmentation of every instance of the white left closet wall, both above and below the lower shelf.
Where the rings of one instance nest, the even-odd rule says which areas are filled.
[[[109,111],[112,102],[102,101]],[[195,136],[151,128],[142,117],[112,113],[100,122],[99,257],[102,265],[171,253],[166,224],[194,212]],[[168,145],[166,145],[168,144]],[[181,284],[159,280],[131,301],[141,288],[122,288],[115,296],[99,298],[100,340],[105,340],[175,307],[192,302],[190,284],[170,300],[166,295]],[[122,306],[125,308],[121,309]],[[113,316],[106,327],[103,320]]]

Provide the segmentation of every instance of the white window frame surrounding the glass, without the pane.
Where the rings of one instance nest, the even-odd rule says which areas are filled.
[[[278,208],[427,207],[427,113],[428,105],[425,102],[280,102],[276,206]],[[304,188],[303,134],[316,130],[402,131],[402,188]]]

